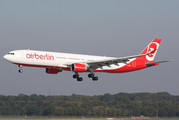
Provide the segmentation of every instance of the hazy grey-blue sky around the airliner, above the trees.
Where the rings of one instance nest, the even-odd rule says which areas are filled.
[[[119,92],[169,92],[179,95],[178,0],[0,0],[0,94],[103,95]],[[3,59],[12,50],[124,57],[139,54],[162,39],[155,60],[173,59],[140,71],[57,75],[43,68],[18,66]]]

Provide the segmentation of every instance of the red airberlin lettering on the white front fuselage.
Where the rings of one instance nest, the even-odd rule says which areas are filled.
[[[49,54],[37,54],[37,53],[27,53],[26,54],[26,58],[27,59],[39,59],[39,60],[54,60],[54,56],[53,55],[49,55]]]

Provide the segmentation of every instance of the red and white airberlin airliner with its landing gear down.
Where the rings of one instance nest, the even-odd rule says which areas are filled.
[[[153,61],[158,51],[161,39],[154,39],[139,55],[127,57],[105,57],[72,53],[59,53],[37,50],[14,50],[4,55],[8,62],[19,66],[19,73],[22,73],[22,66],[45,68],[48,74],[57,74],[62,71],[72,71],[74,79],[82,81],[79,73],[90,72],[89,78],[97,81],[98,77],[94,72],[124,73],[141,70],[144,68],[169,62]]]

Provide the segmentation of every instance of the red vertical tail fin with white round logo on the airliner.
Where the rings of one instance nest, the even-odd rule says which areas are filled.
[[[154,39],[142,52],[141,54],[147,54],[152,53],[150,55],[146,56],[146,60],[153,61],[155,58],[155,55],[157,53],[157,50],[159,48],[161,39]]]

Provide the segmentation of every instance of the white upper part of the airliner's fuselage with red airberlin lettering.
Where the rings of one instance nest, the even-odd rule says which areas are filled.
[[[36,50],[15,50],[11,51],[4,56],[4,58],[14,64],[32,67],[53,67],[60,68],[69,67],[72,63],[85,63],[89,61],[114,59],[114,57],[105,56],[92,56],[92,55],[82,55],[82,54],[71,54],[71,53],[59,53],[59,52],[48,52],[48,51],[36,51]],[[126,64],[118,63],[122,67]],[[111,65],[103,66],[102,69],[117,69],[119,66]],[[66,69],[68,70],[68,69]]]

